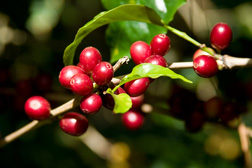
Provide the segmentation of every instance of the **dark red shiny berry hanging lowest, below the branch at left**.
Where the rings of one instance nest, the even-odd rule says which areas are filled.
[[[88,120],[82,114],[68,112],[60,119],[59,125],[65,133],[73,136],[80,136],[86,132]]]

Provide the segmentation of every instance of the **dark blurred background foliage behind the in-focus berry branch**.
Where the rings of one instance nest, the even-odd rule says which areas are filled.
[[[78,28],[104,10],[99,0],[1,2],[0,137],[30,122],[23,111],[23,104],[29,96],[45,96],[53,108],[74,96],[58,82],[64,49],[73,41]],[[212,26],[226,22],[233,30],[233,41],[223,53],[252,57],[251,18],[252,3],[249,0],[188,0],[179,8],[170,25],[210,46]],[[86,46],[94,46],[102,53],[103,60],[109,61],[106,28],[103,26],[88,35],[76,53]],[[197,48],[169,32],[168,35],[172,48],[165,56],[167,61],[191,61]],[[122,66],[117,75],[132,66]],[[249,113],[252,108],[251,71],[250,68],[224,70],[213,79],[203,79],[192,69],[179,70],[178,73],[194,83],[188,85],[164,78],[153,82],[145,98],[146,104],[154,110],[146,115],[141,129],[127,130],[120,115],[102,108],[99,113],[87,116],[98,132],[75,138],[63,133],[55,121],[0,149],[0,167],[243,167],[244,159],[235,129],[207,122],[200,131],[190,133],[183,121],[166,113],[171,108],[168,100],[178,87],[203,102],[218,95],[242,103],[246,109],[242,120],[252,126]],[[73,110],[80,111],[78,108]],[[90,145],[90,141],[95,145]],[[94,148],[96,145],[100,148]],[[104,156],[106,152],[110,153],[110,159]]]

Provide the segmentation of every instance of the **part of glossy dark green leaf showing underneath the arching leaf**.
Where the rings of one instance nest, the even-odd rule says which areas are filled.
[[[141,40],[150,43],[156,34],[166,34],[167,29],[143,22],[123,21],[112,23],[106,30],[106,41],[110,47],[110,62],[115,63],[123,56],[130,56],[130,46]]]

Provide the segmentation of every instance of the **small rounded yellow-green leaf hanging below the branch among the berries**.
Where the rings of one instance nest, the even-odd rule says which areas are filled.
[[[129,111],[129,109],[132,107],[132,101],[131,98],[128,94],[126,93],[121,93],[121,94],[114,94],[110,88],[107,90],[108,94],[111,94],[114,101],[115,101],[115,106],[113,109],[114,113],[125,113]]]

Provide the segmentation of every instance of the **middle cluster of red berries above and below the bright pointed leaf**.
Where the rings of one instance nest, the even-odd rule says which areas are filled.
[[[170,39],[165,34],[158,34],[151,40],[150,45],[144,41],[136,41],[130,47],[130,55],[136,65],[151,63],[167,67],[163,57],[170,49]],[[152,79],[140,78],[124,84],[124,90],[131,96],[132,108],[123,114],[123,123],[129,129],[138,129],[144,120],[139,109],[143,101],[143,94],[148,89]],[[137,104],[137,105],[136,105]]]

